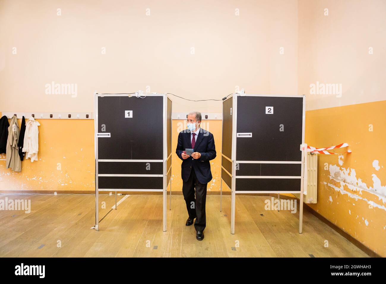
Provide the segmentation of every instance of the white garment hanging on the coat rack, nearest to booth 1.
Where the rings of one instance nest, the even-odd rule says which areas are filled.
[[[37,152],[39,151],[39,129],[40,125],[34,117],[30,117],[25,123],[24,145],[25,159],[30,158],[31,162],[37,161]]]

